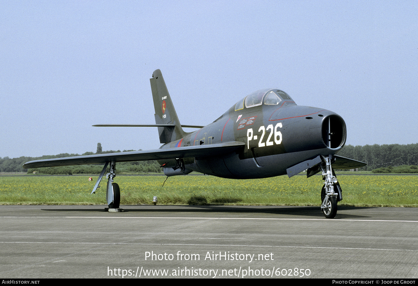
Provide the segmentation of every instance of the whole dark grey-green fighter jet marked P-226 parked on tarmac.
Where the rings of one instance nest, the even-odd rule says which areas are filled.
[[[280,89],[263,89],[240,99],[211,124],[181,125],[161,71],[150,78],[155,124],[100,124],[93,126],[158,127],[160,149],[35,160],[23,165],[37,167],[104,164],[93,192],[107,174],[109,211],[119,210],[120,189],[113,182],[116,162],[157,160],[167,176],[192,171],[230,179],[266,178],[307,170],[310,177],[322,172],[321,210],[334,218],[342,190],[335,169],[352,169],[363,162],[337,156],[346,141],[346,125],[335,112],[298,106]],[[196,127],[184,132],[182,127]]]

